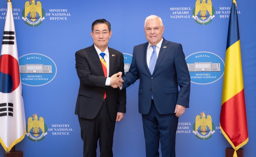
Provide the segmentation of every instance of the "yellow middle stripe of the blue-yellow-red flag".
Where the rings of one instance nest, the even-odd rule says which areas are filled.
[[[226,50],[221,105],[244,88],[240,40]]]

